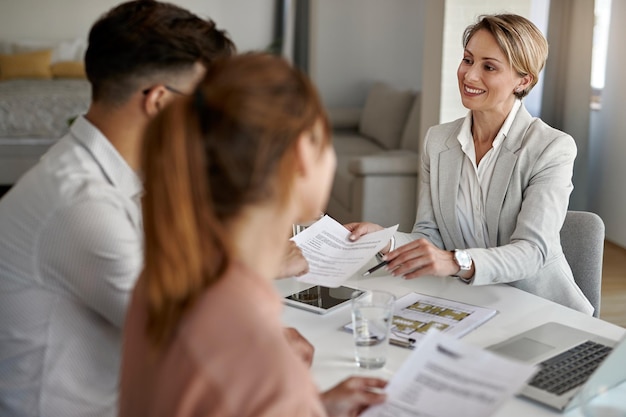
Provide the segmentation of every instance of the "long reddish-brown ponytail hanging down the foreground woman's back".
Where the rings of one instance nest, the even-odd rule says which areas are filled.
[[[227,242],[209,197],[199,120],[192,99],[178,100],[146,135],[143,197],[147,332],[160,347],[201,290],[228,264]]]

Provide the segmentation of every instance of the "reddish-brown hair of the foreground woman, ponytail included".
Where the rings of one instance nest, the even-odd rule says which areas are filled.
[[[216,62],[192,97],[151,123],[143,167],[148,335],[162,346],[229,265],[225,224],[248,205],[288,196],[295,144],[321,121],[311,82],[281,58]]]

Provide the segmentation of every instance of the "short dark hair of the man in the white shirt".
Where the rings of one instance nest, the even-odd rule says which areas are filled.
[[[114,7],[93,25],[85,70],[93,101],[115,105],[146,79],[191,70],[196,62],[208,68],[234,51],[226,32],[211,19],[170,3],[136,0]]]

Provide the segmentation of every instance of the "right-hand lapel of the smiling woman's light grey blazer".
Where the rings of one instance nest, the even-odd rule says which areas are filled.
[[[522,104],[511,124],[509,134],[502,142],[502,149],[500,149],[500,155],[493,170],[485,207],[487,231],[492,246],[498,244],[498,221],[500,220],[502,204],[517,162],[517,151],[522,146],[526,130],[528,130],[531,122],[532,116]]]

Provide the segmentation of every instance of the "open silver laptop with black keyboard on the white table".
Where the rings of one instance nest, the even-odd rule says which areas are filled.
[[[520,395],[561,411],[580,405],[583,390],[626,381],[626,337],[616,342],[550,322],[487,349],[538,365]]]

